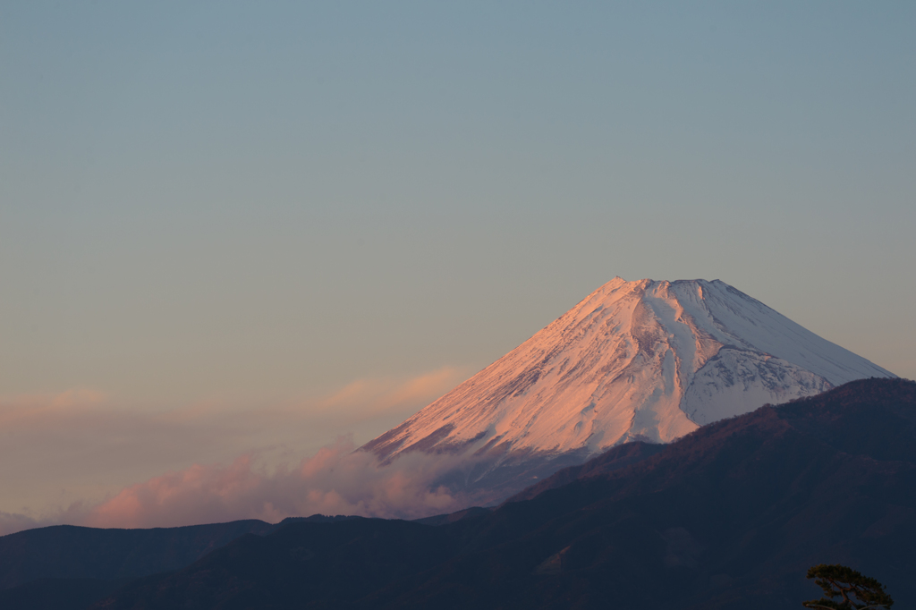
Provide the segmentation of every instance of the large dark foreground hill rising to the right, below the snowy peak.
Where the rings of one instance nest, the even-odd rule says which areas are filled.
[[[769,610],[819,594],[805,579],[816,563],[916,605],[911,381],[855,381],[670,445],[617,447],[539,485],[439,526],[290,522],[93,608]]]

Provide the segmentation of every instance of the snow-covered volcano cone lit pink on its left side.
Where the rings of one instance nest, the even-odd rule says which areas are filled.
[[[581,462],[873,376],[894,377],[722,281],[614,278],[362,449]]]

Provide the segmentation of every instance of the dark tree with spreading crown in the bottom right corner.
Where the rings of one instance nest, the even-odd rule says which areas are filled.
[[[814,579],[826,597],[802,602],[806,608],[870,610],[894,605],[894,600],[885,593],[883,584],[845,565],[815,565],[808,569],[808,578]],[[836,597],[842,598],[842,601],[834,602]]]

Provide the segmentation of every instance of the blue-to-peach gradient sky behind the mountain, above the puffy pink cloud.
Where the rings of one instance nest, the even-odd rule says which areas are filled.
[[[909,1],[0,2],[0,511],[366,441],[615,276],[916,377],[914,108]]]

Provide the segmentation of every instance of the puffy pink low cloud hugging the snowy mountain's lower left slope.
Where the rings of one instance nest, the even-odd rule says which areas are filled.
[[[423,517],[459,507],[462,498],[432,482],[454,458],[406,456],[388,466],[354,452],[341,437],[295,468],[266,472],[244,455],[231,465],[195,464],[127,487],[93,507],[82,523],[97,528],[175,527],[242,518],[361,515]]]

